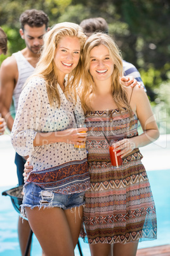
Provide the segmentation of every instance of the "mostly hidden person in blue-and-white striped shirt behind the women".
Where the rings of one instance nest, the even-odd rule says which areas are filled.
[[[82,20],[82,22],[79,25],[82,27],[84,34],[86,34],[86,36],[88,37],[91,36],[91,34],[93,34],[96,31],[101,31],[108,34],[108,24],[106,20],[101,17],[87,18],[85,20]],[[138,69],[136,69],[136,67],[133,64],[127,62],[126,60],[122,60],[122,63],[123,63],[124,76],[133,76],[137,80],[137,82],[141,84],[145,92],[147,92],[145,85],[141,80],[141,76]],[[130,82],[129,78],[127,79],[127,83],[128,82]]]

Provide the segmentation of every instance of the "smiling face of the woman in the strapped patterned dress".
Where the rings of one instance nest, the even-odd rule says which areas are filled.
[[[114,62],[105,45],[95,46],[90,52],[89,72],[95,83],[110,79],[114,71]]]

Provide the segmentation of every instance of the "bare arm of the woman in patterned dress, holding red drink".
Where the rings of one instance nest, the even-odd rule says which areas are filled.
[[[121,155],[121,157],[124,157],[130,153],[134,148],[146,146],[159,138],[159,129],[157,127],[147,94],[144,90],[134,87],[131,97],[131,108],[133,109],[134,113],[136,113],[138,120],[140,121],[143,133],[140,134],[140,136],[122,139],[122,141],[115,143],[115,151],[121,149],[121,152],[117,153],[117,155]]]

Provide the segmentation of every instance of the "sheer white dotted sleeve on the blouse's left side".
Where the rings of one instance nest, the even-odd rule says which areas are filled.
[[[11,131],[11,142],[19,155],[30,155],[34,151],[33,141],[39,131],[40,118],[41,93],[37,83],[34,85],[34,81],[30,81],[20,94]]]

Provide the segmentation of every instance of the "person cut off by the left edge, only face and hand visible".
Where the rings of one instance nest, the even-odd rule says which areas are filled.
[[[4,54],[6,55],[7,52],[7,36],[3,29],[0,27],[0,55]],[[1,105],[1,98],[0,98],[0,105]],[[4,134],[4,130],[6,128],[6,122],[4,121],[4,118],[1,117],[0,113],[0,135]]]

